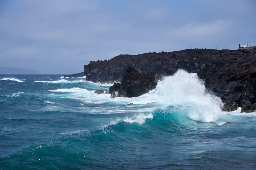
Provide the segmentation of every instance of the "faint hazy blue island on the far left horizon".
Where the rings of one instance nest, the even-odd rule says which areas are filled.
[[[0,67],[0,74],[41,74],[36,70],[26,70],[22,68]]]

